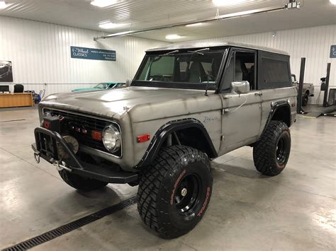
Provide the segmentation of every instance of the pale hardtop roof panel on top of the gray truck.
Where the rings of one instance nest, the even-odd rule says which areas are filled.
[[[200,42],[200,41],[177,42],[162,47],[147,49],[146,52],[157,52],[157,51],[175,50],[175,49],[193,49],[193,48],[198,49],[198,48],[223,47],[223,46],[240,47],[245,49],[259,49],[265,52],[273,52],[277,54],[289,55],[288,52],[284,52],[279,49],[273,49],[258,45],[247,45],[240,42]]]

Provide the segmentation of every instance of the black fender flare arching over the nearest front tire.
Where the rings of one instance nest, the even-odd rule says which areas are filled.
[[[157,157],[157,154],[159,153],[159,149],[161,148],[164,141],[167,139],[169,134],[172,134],[172,132],[176,132],[181,129],[187,129],[191,127],[196,127],[197,129],[200,129],[203,133],[203,136],[205,136],[206,141],[208,141],[208,145],[210,146],[210,158],[216,158],[218,156],[217,151],[215,150],[215,146],[213,146],[213,142],[211,141],[211,138],[206,131],[206,127],[198,120],[198,119],[178,119],[178,120],[172,120],[168,122],[167,124],[164,124],[162,127],[160,127],[155,135],[152,137],[152,141],[150,141],[150,146],[148,146],[147,151],[145,152],[145,155],[142,157],[138,165],[135,166],[135,168],[142,168],[146,165],[150,165],[153,160]]]

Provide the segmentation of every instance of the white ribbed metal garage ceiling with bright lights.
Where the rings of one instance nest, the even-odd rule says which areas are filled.
[[[26,18],[91,30],[103,30],[99,28],[99,23],[102,21],[122,24],[117,28],[104,30],[106,34],[214,18],[217,11],[219,15],[225,15],[261,8],[279,8],[286,4],[284,0],[245,0],[218,8],[211,0],[120,0],[112,6],[99,8],[92,6],[91,0],[5,1],[11,5],[0,10],[0,16]],[[140,33],[136,36],[172,42],[165,38],[167,34],[181,35],[182,38],[178,41],[183,41],[336,23],[336,6],[329,0],[301,0],[301,6],[299,11],[254,14],[197,27],[169,28]]]

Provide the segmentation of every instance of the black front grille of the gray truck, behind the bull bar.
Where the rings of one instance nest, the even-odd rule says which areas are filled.
[[[92,139],[91,132],[103,132],[103,129],[109,124],[114,124],[120,130],[118,124],[103,119],[97,119],[96,117],[89,117],[89,115],[79,115],[61,110],[50,110],[50,112],[52,116],[60,115],[65,117],[65,121],[62,122],[61,134],[74,136],[74,138],[78,140],[79,145],[88,146],[105,153],[110,153],[106,150],[105,146],[103,146],[102,141]],[[81,129],[81,132],[76,132],[76,129]],[[82,132],[83,130],[87,131],[86,134]],[[121,149],[119,149],[116,153],[113,153],[113,155],[121,157]]]

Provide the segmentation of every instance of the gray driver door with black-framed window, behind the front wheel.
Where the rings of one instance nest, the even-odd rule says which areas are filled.
[[[257,52],[231,49],[221,83],[222,137],[220,154],[253,143],[259,137],[262,93],[256,90]],[[249,81],[250,93],[232,93],[233,81]]]

